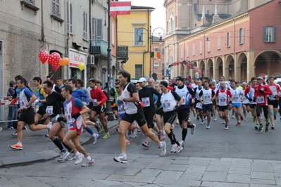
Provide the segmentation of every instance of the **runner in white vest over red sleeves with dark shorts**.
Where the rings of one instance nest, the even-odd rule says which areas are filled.
[[[225,130],[228,130],[228,105],[232,101],[232,93],[226,89],[225,82],[220,82],[220,89],[217,90],[215,99],[218,105],[218,116],[225,120]]]

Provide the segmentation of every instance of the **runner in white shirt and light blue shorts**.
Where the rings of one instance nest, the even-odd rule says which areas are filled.
[[[237,120],[236,126],[240,126],[241,122],[239,121],[239,116],[240,120],[243,121],[244,117],[242,116],[241,113],[241,107],[242,107],[242,101],[244,100],[244,92],[242,89],[237,88],[237,82],[233,81],[231,82],[232,90],[230,91],[232,93],[232,110],[235,112],[235,117]]]

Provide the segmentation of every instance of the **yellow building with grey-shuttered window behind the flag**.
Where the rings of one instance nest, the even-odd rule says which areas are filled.
[[[123,69],[132,78],[149,77],[151,12],[155,8],[132,6],[130,15],[118,16],[118,46],[129,46],[129,59]]]

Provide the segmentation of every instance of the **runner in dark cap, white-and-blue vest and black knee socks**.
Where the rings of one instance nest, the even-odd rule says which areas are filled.
[[[179,119],[180,127],[182,128],[182,148],[185,144],[185,138],[187,137],[187,128],[191,129],[191,134],[194,134],[196,124],[191,124],[188,122],[190,104],[189,98],[192,96],[192,103],[195,103],[195,93],[189,86],[186,86],[183,82],[184,79],[180,76],[176,78],[177,86],[175,86],[175,93],[177,93],[180,98],[182,98],[182,105],[180,105],[179,110],[177,110],[177,118]],[[180,150],[179,150],[180,151]]]

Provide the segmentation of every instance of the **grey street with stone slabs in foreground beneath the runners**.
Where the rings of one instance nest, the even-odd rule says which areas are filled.
[[[251,120],[251,117],[249,117]],[[0,169],[1,186],[281,186],[280,121],[275,130],[258,133],[251,121],[235,127],[230,121],[229,130],[224,129],[223,121],[197,124],[194,135],[188,131],[185,149],[180,153],[170,153],[170,142],[166,139],[167,154],[160,157],[155,143],[145,150],[141,143],[145,137],[138,134],[130,139],[127,146],[128,164],[113,161],[120,154],[118,134],[111,129],[111,138],[100,140],[95,146],[92,141],[85,143],[86,150],[96,163],[87,168],[70,162],[57,162],[44,158],[35,164],[23,167]],[[178,125],[175,124],[175,129]],[[7,130],[4,130],[6,133]],[[2,131],[3,132],[3,131]],[[2,133],[1,132],[1,133]],[[29,142],[21,151],[10,150],[0,143],[2,154],[16,155],[32,153],[33,157],[48,155],[56,157],[58,150],[39,132],[28,132],[34,138],[38,150],[32,149]],[[89,138],[87,134],[85,141]],[[176,136],[181,133],[176,130]],[[14,143],[13,137],[4,141]],[[6,144],[6,143],[4,143]],[[11,143],[8,143],[11,144]],[[49,149],[50,148],[50,149]],[[42,154],[43,153],[43,154]],[[31,157],[31,156],[30,156]],[[46,156],[47,157],[47,156]],[[11,160],[11,159],[10,159]],[[85,160],[83,160],[85,162]],[[2,161],[3,162],[3,161]]]

